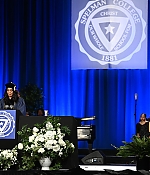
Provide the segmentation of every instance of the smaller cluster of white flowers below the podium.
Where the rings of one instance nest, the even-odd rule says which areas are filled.
[[[18,163],[17,161],[17,147],[13,149],[0,150],[0,167],[2,170],[9,169],[12,165]]]

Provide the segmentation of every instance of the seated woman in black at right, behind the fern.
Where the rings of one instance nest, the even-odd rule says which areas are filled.
[[[136,135],[140,138],[150,137],[149,122],[146,120],[146,114],[142,113],[140,121],[136,124]]]

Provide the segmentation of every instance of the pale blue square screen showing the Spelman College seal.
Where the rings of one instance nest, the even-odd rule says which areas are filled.
[[[148,0],[72,0],[71,69],[147,69]]]

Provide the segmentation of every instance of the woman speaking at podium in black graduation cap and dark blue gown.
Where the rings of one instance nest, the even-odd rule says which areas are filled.
[[[0,109],[5,110],[20,110],[23,115],[26,115],[26,105],[22,97],[18,96],[15,90],[16,85],[12,82],[5,84],[6,89],[4,97],[0,101]]]

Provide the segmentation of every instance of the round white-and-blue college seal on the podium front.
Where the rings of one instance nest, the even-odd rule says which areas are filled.
[[[0,137],[9,136],[15,128],[13,116],[6,111],[0,111]]]

